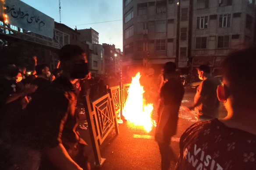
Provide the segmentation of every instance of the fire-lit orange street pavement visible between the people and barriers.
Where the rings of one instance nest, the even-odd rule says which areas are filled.
[[[186,89],[182,101],[184,106],[192,106],[194,101],[195,89]],[[224,117],[226,111],[223,104],[220,107],[220,117]],[[85,116],[80,116],[80,122],[85,121]],[[196,122],[193,114],[180,109],[178,128],[176,135],[173,136],[171,147],[174,153],[179,155],[179,139],[181,134],[189,126]],[[111,132],[100,146],[101,157],[105,158],[103,166],[96,168],[94,166],[94,154],[89,135],[89,130],[78,129],[81,137],[88,143],[86,147],[89,156],[89,162],[92,170],[160,170],[161,156],[158,145],[154,140],[155,128],[146,132],[139,127],[130,125],[127,121],[119,124],[119,135]],[[175,169],[175,163],[171,164],[171,170]]]

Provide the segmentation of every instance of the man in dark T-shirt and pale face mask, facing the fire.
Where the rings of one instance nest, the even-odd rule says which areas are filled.
[[[220,102],[217,98],[217,87],[220,81],[211,76],[210,67],[201,65],[197,68],[199,79],[203,80],[196,90],[194,105],[187,110],[195,108],[200,120],[216,118]]]

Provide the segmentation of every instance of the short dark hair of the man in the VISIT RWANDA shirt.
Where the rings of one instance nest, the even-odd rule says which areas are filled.
[[[221,64],[222,75],[228,82],[234,104],[255,108],[256,46],[228,55]]]

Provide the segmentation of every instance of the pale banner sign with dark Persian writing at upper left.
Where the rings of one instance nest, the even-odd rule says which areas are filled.
[[[20,0],[6,0],[5,7],[9,24],[53,38],[53,18]]]

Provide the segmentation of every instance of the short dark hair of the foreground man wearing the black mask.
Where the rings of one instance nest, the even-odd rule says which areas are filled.
[[[60,49],[59,59],[60,61],[67,61],[72,59],[74,56],[82,55],[84,51],[78,45],[64,45]]]

